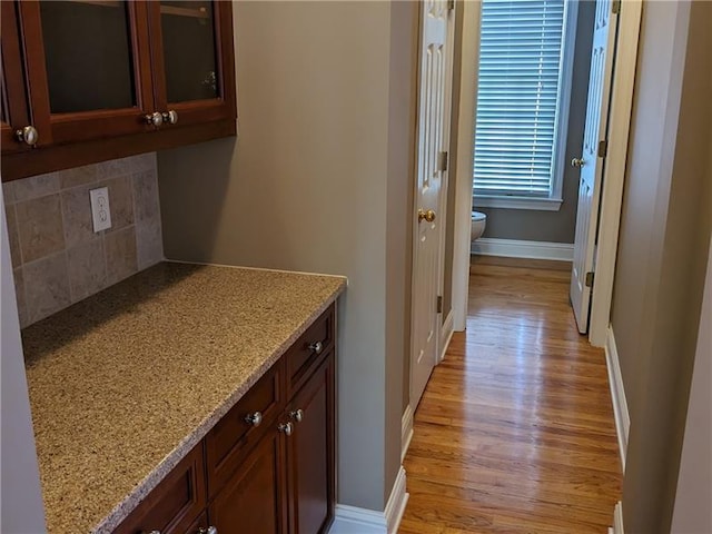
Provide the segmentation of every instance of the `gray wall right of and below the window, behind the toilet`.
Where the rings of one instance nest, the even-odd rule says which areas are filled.
[[[583,128],[586,119],[589,95],[589,66],[591,65],[591,42],[595,4],[592,1],[578,3],[576,46],[574,51],[574,75],[571,89],[571,111],[566,138],[565,161],[581,156]],[[576,205],[578,197],[578,169],[564,167],[563,199],[558,211],[535,211],[530,209],[475,209],[487,214],[487,226],[483,237],[497,239],[522,239],[531,241],[574,243],[576,227]]]

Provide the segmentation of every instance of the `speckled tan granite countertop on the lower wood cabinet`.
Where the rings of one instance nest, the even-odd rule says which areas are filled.
[[[345,286],[164,263],[26,328],[48,532],[111,532]]]

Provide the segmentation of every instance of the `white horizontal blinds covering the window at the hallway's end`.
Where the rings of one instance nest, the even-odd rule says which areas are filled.
[[[548,197],[564,0],[484,0],[475,126],[475,195]]]

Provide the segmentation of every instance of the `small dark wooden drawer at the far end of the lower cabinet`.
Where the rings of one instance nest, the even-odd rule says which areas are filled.
[[[287,372],[287,396],[301,387],[334,344],[334,305],[307,328],[283,358]]]

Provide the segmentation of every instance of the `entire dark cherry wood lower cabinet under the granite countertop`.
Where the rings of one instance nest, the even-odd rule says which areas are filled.
[[[115,531],[322,534],[335,505],[335,307]]]

